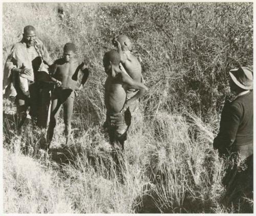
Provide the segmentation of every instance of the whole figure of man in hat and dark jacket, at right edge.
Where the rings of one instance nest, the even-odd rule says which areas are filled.
[[[247,67],[232,69],[229,75],[236,98],[223,107],[214,149],[228,159],[222,179],[226,201],[239,203],[242,197],[253,199],[253,75]]]

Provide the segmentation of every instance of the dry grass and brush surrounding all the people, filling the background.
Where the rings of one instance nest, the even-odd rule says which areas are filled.
[[[3,4],[4,61],[23,28],[33,25],[53,59],[73,41],[92,72],[75,102],[69,151],[58,149],[61,119],[47,154],[38,150],[45,130],[30,128],[20,137],[15,115],[4,114],[4,212],[252,212],[249,198],[225,202],[225,163],[211,145],[228,70],[252,65],[252,4],[69,3],[62,4],[63,18],[57,7]],[[132,38],[150,88],[125,143],[124,184],[101,128],[102,57],[120,32]],[[6,112],[10,106],[4,100]]]

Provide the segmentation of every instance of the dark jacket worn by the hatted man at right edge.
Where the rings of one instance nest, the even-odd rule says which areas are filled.
[[[214,149],[238,151],[242,146],[253,146],[253,92],[226,102],[220,121],[220,132],[214,139]]]

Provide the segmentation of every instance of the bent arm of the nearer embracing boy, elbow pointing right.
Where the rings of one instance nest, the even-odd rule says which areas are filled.
[[[135,88],[137,89],[137,93],[132,97],[130,98],[129,100],[127,100],[121,110],[124,111],[126,110],[130,104],[134,101],[136,101],[137,99],[141,98],[142,95],[148,91],[148,88],[143,84],[143,83],[140,83],[140,82],[137,82],[137,81],[134,81],[131,77],[127,76],[126,74],[124,73],[121,73],[120,74],[120,80],[123,82],[123,84],[126,84],[129,88]]]

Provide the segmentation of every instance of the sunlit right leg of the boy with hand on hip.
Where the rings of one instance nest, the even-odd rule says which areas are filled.
[[[70,140],[71,118],[72,118],[73,107],[74,107],[74,99],[75,99],[75,93],[74,91],[72,91],[70,96],[66,100],[66,102],[63,104],[63,114],[64,114],[64,124],[65,124],[64,132],[66,135],[66,145],[68,145],[68,142]]]

